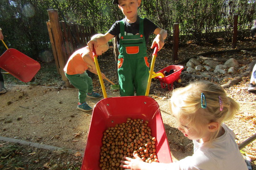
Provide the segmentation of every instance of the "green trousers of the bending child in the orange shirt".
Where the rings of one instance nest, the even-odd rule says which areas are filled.
[[[87,75],[87,73],[85,73]],[[69,79],[70,83],[79,90],[78,99],[80,103],[85,102],[86,93],[88,93],[88,83],[85,74],[68,75],[65,74]],[[88,75],[87,75],[88,76]]]

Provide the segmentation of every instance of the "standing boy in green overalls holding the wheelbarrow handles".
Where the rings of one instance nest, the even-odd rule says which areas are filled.
[[[156,37],[151,48],[158,44],[159,50],[164,46],[167,32],[146,18],[137,15],[141,0],[113,0],[118,4],[125,18],[112,25],[108,33],[88,42],[90,49],[104,44],[117,36],[119,48],[118,75],[121,96],[145,95],[149,76],[146,44],[150,34]],[[158,51],[159,51],[158,50]]]

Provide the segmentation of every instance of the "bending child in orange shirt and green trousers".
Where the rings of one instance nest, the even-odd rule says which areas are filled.
[[[91,40],[99,38],[103,34],[96,34],[91,37]],[[106,52],[109,49],[109,44],[99,45],[96,48],[96,54],[101,55],[103,52]],[[69,79],[71,84],[79,89],[78,98],[79,103],[77,106],[78,110],[82,111],[91,111],[92,108],[85,101],[86,97],[89,98],[100,98],[101,95],[93,92],[92,79],[86,73],[86,70],[91,71],[97,75],[96,66],[93,60],[92,51],[88,46],[75,51],[67,61],[67,64],[64,68],[66,77]],[[102,78],[105,78],[103,73]]]

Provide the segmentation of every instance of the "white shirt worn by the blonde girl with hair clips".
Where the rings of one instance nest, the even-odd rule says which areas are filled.
[[[170,170],[248,170],[239,152],[235,133],[222,124],[225,133],[211,144],[193,140],[194,154],[171,163]]]

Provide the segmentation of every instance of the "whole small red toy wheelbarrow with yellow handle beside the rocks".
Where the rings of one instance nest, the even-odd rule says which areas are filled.
[[[174,72],[168,76],[165,76],[165,71],[169,73],[171,70],[174,70]],[[177,83],[181,82],[180,75],[182,70],[183,70],[183,66],[170,65],[156,72],[155,76],[153,77],[155,77],[160,81],[162,88],[165,88],[166,86],[168,86],[168,90],[172,90],[174,82],[177,82]]]

